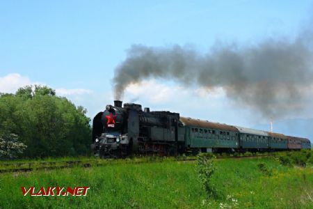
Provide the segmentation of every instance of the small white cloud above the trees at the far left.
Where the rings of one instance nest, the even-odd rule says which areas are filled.
[[[5,77],[0,77],[0,92],[15,93],[18,88],[31,84],[29,77],[23,77],[17,73],[11,73]]]

